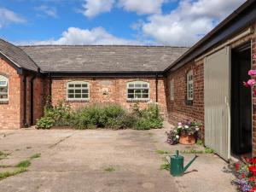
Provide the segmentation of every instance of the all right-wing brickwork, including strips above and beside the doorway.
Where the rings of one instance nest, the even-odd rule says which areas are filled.
[[[252,25],[253,29],[256,24]],[[242,31],[241,31],[242,32]],[[240,34],[237,33],[236,35]],[[235,38],[234,35],[232,38]],[[256,69],[256,31],[246,37],[238,39],[230,44],[230,49],[234,49],[247,42],[252,42],[252,68]],[[222,42],[221,44],[224,44]],[[217,44],[215,47],[218,47]],[[211,51],[208,50],[208,51]],[[204,53],[205,54],[205,53]],[[198,56],[200,58],[201,55]],[[254,57],[254,58],[253,58]],[[186,103],[187,84],[186,74],[193,69],[194,73],[194,101],[192,105]],[[170,81],[174,79],[174,101],[170,100]],[[246,79],[245,79],[246,80]],[[179,121],[195,120],[202,123],[204,127],[204,61],[190,61],[175,72],[168,74],[166,78],[166,103],[168,110],[168,120],[172,125]],[[256,96],[253,96],[253,155],[256,155]]]

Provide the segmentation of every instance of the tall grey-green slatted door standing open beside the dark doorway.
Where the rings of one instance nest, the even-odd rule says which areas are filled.
[[[209,55],[204,62],[205,143],[230,159],[230,48]]]

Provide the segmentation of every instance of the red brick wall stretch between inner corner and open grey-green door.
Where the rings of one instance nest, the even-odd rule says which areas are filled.
[[[192,105],[187,104],[187,73],[193,70],[194,78],[194,101]],[[170,99],[170,81],[174,80],[174,100]],[[172,125],[186,120],[204,122],[204,79],[203,63],[190,62],[172,73],[166,79],[166,101],[168,119]]]

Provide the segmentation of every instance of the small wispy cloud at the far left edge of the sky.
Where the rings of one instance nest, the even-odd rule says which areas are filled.
[[[9,9],[0,8],[0,29],[10,23],[25,23],[26,20]]]

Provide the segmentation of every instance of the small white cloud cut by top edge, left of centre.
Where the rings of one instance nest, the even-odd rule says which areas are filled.
[[[83,10],[80,10],[86,17],[94,17],[104,12],[110,12],[114,0],[84,0]]]

